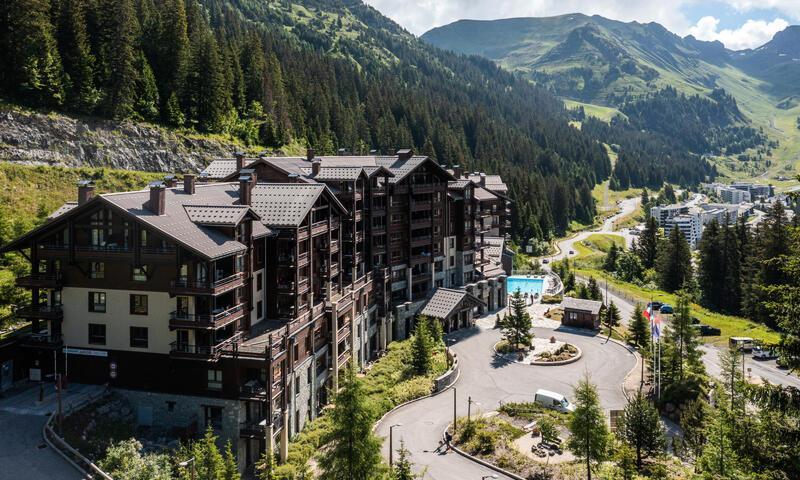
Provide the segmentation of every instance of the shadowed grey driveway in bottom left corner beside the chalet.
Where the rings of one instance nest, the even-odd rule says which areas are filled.
[[[63,404],[77,404],[95,393],[94,386],[70,385]],[[42,427],[56,408],[52,383],[45,386],[44,402],[37,387],[6,393],[0,398],[0,480],[78,480],[81,475],[44,443]]]

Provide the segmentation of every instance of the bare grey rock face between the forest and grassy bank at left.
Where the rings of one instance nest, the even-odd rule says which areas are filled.
[[[0,110],[0,160],[28,165],[193,172],[236,149],[128,121]]]

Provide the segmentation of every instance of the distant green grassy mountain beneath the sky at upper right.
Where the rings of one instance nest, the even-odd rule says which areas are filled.
[[[680,37],[657,23],[581,14],[460,20],[435,28],[422,39],[491,59],[573,101],[571,106],[585,104],[588,114],[606,120],[613,112],[595,106],[621,111],[636,123],[631,112],[648,113],[656,105],[667,105],[665,98],[679,101],[682,105],[670,108],[683,116],[662,117],[686,124],[684,131],[676,131],[674,124],[655,123],[652,116],[640,118],[634,126],[681,141],[697,133],[689,125],[694,128],[704,117],[702,112],[709,111],[704,100],[711,100],[724,110],[718,118],[725,121],[705,129],[703,141],[692,140],[692,151],[719,156],[719,168],[732,177],[764,172],[778,177],[797,167],[800,27],[789,27],[764,46],[740,52],[720,42]],[[678,95],[655,93],[667,88]]]

